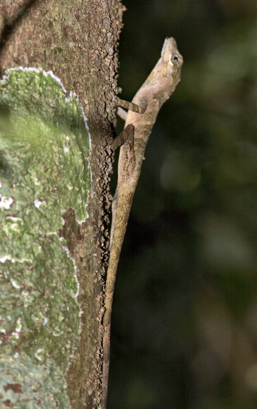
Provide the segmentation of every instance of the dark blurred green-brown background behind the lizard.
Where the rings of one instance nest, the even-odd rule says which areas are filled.
[[[124,3],[121,98],[132,100],[166,36],[184,65],[122,249],[109,408],[256,408],[257,3]]]

